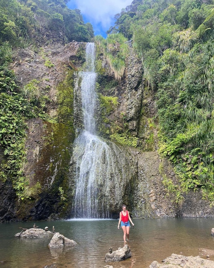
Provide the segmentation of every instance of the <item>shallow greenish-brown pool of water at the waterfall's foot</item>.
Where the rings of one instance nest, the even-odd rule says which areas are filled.
[[[36,222],[35,222],[36,223]],[[185,256],[200,255],[214,260],[213,219],[133,219],[130,229],[132,257],[122,262],[110,263],[114,268],[146,268],[152,261],[161,262],[172,253]],[[123,247],[123,231],[118,230],[118,220],[68,220],[40,221],[67,238],[75,240],[75,247],[49,249],[51,238],[14,238],[23,228],[32,228],[34,222],[0,224],[0,268],[43,268],[55,263],[60,268],[102,268],[109,247]],[[206,251],[203,251],[206,249]]]

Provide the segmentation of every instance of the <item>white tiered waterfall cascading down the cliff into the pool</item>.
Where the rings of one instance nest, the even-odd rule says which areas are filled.
[[[86,46],[86,72],[80,72],[84,131],[75,139],[73,158],[76,185],[72,214],[75,218],[109,218],[112,202],[121,202],[121,187],[127,184],[123,152],[96,136],[95,45]],[[76,83],[78,87],[78,81]],[[116,196],[116,197],[114,197]]]

